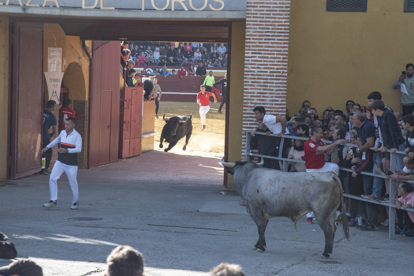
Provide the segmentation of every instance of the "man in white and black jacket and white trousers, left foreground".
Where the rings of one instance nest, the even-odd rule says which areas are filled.
[[[69,180],[70,189],[72,190],[72,206],[70,209],[75,210],[79,205],[78,186],[77,186],[77,153],[82,151],[82,137],[75,130],[75,119],[67,118],[65,122],[65,130],[62,130],[59,136],[42,149],[42,154],[51,147],[60,143],[58,149],[58,160],[53,166],[50,178],[49,187],[51,192],[50,202],[43,204],[43,207],[51,208],[57,204],[58,199],[58,179],[62,173],[66,173]]]

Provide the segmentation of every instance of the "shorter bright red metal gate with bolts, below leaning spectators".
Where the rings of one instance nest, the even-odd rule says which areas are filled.
[[[141,154],[142,103],[144,89],[142,87],[124,87],[120,157],[131,157]]]

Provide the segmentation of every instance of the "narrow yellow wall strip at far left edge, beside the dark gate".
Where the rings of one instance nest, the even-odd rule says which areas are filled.
[[[9,17],[0,15],[0,181],[7,177],[9,112]]]

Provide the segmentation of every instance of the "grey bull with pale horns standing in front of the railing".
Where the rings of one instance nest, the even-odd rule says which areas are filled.
[[[284,173],[262,168],[260,165],[263,163],[227,163],[224,157],[221,164],[227,173],[234,175],[236,190],[258,226],[259,240],[254,249],[265,251],[265,230],[270,218],[288,217],[296,228],[298,220],[313,211],[325,235],[322,255],[327,258],[332,254],[335,211],[339,206],[345,210],[341,181],[335,173]],[[342,223],[345,238],[349,239],[346,216],[342,216]]]

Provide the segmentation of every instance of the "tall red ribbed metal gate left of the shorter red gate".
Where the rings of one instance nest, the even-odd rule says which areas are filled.
[[[93,41],[89,167],[118,160],[119,41]]]

